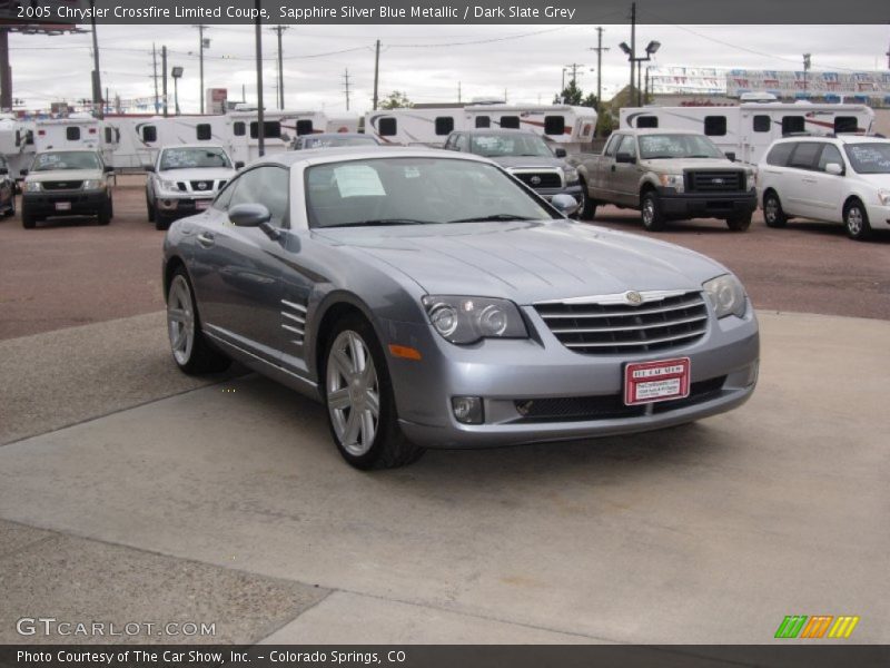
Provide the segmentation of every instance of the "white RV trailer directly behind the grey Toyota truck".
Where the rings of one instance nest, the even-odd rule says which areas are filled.
[[[442,146],[454,130],[531,130],[577,153],[593,140],[596,111],[571,105],[477,104],[465,107],[388,109],[365,115],[365,131],[384,144]]]

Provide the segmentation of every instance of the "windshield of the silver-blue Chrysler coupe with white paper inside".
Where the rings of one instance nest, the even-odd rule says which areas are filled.
[[[424,225],[557,217],[494,165],[452,158],[374,158],[306,170],[310,227]]]

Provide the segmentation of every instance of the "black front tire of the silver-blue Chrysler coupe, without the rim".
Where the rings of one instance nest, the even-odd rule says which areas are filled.
[[[347,387],[342,387],[342,390],[348,390],[348,407],[333,407],[330,404],[330,396],[328,395],[328,385],[330,384],[328,382],[328,366],[332,360],[332,351],[336,344],[344,341],[343,337],[348,337],[349,335],[357,336],[362,344],[364,344],[365,351],[370,354],[374,366],[373,372],[376,377],[374,379],[374,383],[369,385],[372,387],[376,386],[378,405],[376,430],[370,440],[370,445],[367,446],[357,442],[352,446],[354,452],[350,452],[347,445],[344,444],[343,440],[337,434],[338,428],[335,424],[335,421],[345,422],[345,425],[342,425],[340,429],[348,429],[349,418],[352,418],[353,412],[356,410],[353,405],[355,399],[349,389],[352,385],[349,384]],[[389,370],[386,365],[386,356],[377,341],[374,328],[364,317],[359,315],[348,315],[334,326],[334,331],[325,343],[325,354],[322,362],[323,364],[319,373],[322,382],[319,385],[322,386],[322,393],[325,397],[330,435],[340,455],[349,465],[365,471],[369,469],[395,469],[415,462],[423,455],[424,449],[408,441],[398,426],[393,383],[389,376]],[[353,361],[353,363],[355,363],[355,361]],[[333,371],[332,373],[342,375],[339,371]],[[363,394],[359,401],[364,402],[364,396]],[[342,415],[338,416],[336,414],[337,411],[342,412]],[[347,411],[349,418],[347,418]],[[356,433],[356,439],[362,439],[363,432],[364,429],[359,428],[358,433]],[[348,431],[344,435],[348,435]]]

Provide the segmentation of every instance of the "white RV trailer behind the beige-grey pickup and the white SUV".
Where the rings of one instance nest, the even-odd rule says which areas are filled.
[[[724,153],[756,165],[774,139],[794,132],[872,132],[874,111],[866,105],[742,102],[738,107],[627,107],[621,129],[660,128],[708,135]]]

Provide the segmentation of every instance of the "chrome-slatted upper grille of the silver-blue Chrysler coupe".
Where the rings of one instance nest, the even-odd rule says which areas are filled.
[[[672,348],[701,338],[708,330],[708,308],[696,292],[640,306],[556,302],[536,304],[535,311],[560,343],[585,355]]]

